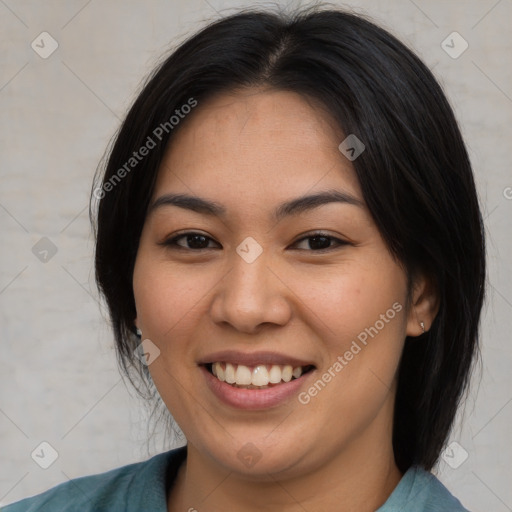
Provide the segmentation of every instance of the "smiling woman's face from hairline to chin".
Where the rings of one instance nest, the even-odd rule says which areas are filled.
[[[149,370],[189,446],[256,478],[390,445],[397,367],[419,326],[345,136],[291,92],[223,94],[182,122],[133,287]],[[293,207],[327,191],[345,200]]]

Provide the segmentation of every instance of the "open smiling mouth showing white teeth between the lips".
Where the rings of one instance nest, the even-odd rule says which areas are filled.
[[[300,378],[315,367],[313,365],[295,366],[280,364],[259,364],[245,366],[227,362],[215,362],[204,365],[218,380],[236,388],[268,389]]]

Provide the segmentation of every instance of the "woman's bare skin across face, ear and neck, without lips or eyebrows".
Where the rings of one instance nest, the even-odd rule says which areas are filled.
[[[431,325],[436,297],[418,276],[407,304],[405,271],[338,150],[344,138],[313,100],[246,89],[198,105],[167,150],[153,200],[186,193],[227,209],[150,209],[134,269],[135,322],[160,350],[151,376],[188,442],[171,512],[374,511],[402,477],[391,444],[397,368],[406,335]],[[271,218],[280,203],[327,189],[362,205]],[[348,243],[319,251],[304,239],[318,230]],[[161,244],[179,231],[209,237],[208,248],[186,237],[181,250]],[[248,236],[263,250],[252,263],[236,252]],[[218,350],[270,350],[311,361],[312,384],[396,302],[401,311],[305,405],[294,395],[267,410],[233,408],[197,365]],[[261,454],[252,467],[237,457],[248,442]]]

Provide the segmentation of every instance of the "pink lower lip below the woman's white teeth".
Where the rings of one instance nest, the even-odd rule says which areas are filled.
[[[314,373],[314,370],[311,370],[298,379],[267,389],[244,389],[235,388],[226,382],[221,382],[204,366],[200,368],[213,394],[225,404],[238,409],[268,409],[282,405],[291,396],[295,395]]]

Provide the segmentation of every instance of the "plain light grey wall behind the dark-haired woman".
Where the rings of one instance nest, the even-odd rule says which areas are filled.
[[[472,512],[510,511],[512,0],[334,3],[413,48],[461,123],[487,227],[488,299],[481,371],[437,474]],[[163,53],[248,5],[264,3],[0,0],[0,505],[170,448],[158,435],[148,454],[143,405],[117,370],[93,282],[88,195]],[[47,58],[42,32],[58,43]],[[41,442],[58,454],[48,469],[31,457],[48,456]]]

